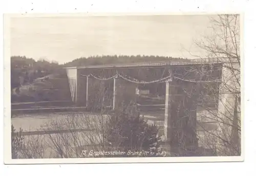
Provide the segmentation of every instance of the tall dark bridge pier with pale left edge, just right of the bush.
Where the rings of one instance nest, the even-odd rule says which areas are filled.
[[[166,82],[164,137],[170,152],[178,155],[195,152],[198,147],[196,94],[186,93],[192,89],[187,83]]]

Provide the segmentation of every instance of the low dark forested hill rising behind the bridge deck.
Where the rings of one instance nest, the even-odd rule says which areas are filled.
[[[121,64],[121,63],[137,63],[137,62],[158,62],[158,61],[187,61],[182,58],[162,57],[162,56],[92,56],[75,59],[65,63],[65,67],[69,66],[86,66],[86,65],[103,65],[103,64]]]

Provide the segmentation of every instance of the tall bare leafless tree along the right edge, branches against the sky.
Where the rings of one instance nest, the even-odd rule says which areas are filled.
[[[199,123],[204,133],[200,140],[206,147],[215,148],[218,155],[237,156],[241,155],[240,16],[224,14],[210,20],[210,33],[195,44],[206,53],[205,59],[214,58],[222,64],[197,69],[201,80],[209,81],[198,82],[204,110],[200,118],[215,121],[218,128],[209,130],[205,123]],[[214,106],[209,108],[209,102]]]

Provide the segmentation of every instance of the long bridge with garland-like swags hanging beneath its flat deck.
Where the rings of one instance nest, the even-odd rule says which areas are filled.
[[[139,86],[161,84],[165,91],[164,104],[160,105],[164,108],[165,141],[173,148],[179,144],[191,149],[198,146],[197,99],[202,96],[206,84],[211,87],[208,86],[207,89],[219,91],[223,79],[229,77],[224,64],[238,65],[236,60],[229,58],[207,58],[178,62],[66,67],[66,71],[72,101],[77,107],[91,110],[95,107],[115,110],[125,103],[127,105],[129,102],[137,102],[136,89]],[[144,74],[141,76],[141,73]],[[228,93],[224,99],[227,96],[230,99]],[[231,108],[235,101],[233,99]],[[227,106],[223,102],[225,100],[219,100],[219,110]],[[230,107],[230,103],[228,106]]]

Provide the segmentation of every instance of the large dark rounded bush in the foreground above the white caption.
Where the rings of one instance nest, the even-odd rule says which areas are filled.
[[[117,110],[106,122],[104,132],[105,145],[111,149],[128,150],[134,152],[158,153],[161,136],[158,136],[159,127],[148,125],[140,118],[140,114],[133,106]]]

